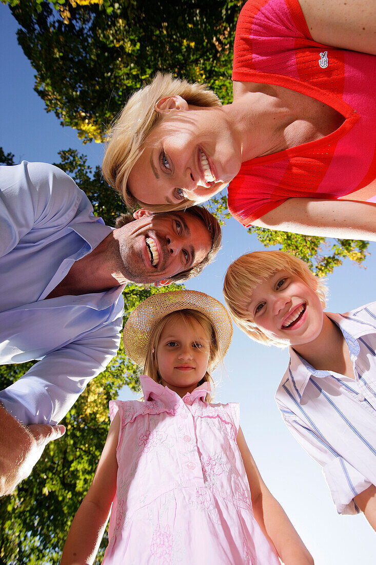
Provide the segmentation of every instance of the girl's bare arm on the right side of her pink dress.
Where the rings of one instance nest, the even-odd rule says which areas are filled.
[[[263,479],[261,479],[240,428],[237,442],[250,484],[253,514],[260,528],[276,547],[277,553],[285,565],[312,565],[311,554],[309,554],[294,526],[287,518],[282,506],[270,494]]]

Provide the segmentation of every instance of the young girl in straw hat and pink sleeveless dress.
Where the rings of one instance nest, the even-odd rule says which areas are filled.
[[[233,329],[207,294],[152,295],[124,328],[143,402],[111,401],[111,427],[61,565],[93,563],[111,510],[106,565],[308,565],[260,477],[237,404],[212,404],[210,372]]]

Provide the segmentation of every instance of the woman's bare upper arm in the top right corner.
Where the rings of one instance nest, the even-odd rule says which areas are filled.
[[[376,18],[366,0],[299,0],[314,41],[376,55]]]

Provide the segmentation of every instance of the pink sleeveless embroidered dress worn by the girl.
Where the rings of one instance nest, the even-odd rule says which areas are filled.
[[[121,418],[116,496],[104,565],[279,565],[252,512],[236,437],[237,404],[181,399],[141,377],[145,401],[111,401]]]

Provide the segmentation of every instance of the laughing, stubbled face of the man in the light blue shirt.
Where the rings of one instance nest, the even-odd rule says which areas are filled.
[[[212,246],[203,222],[187,212],[149,214],[137,212],[138,219],[115,230],[126,279],[166,282],[170,277],[195,267]]]

